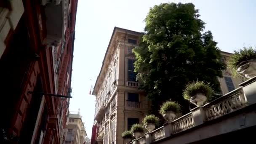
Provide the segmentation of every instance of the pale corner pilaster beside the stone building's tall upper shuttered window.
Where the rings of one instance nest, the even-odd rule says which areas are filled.
[[[117,85],[125,85],[125,45],[118,44]]]

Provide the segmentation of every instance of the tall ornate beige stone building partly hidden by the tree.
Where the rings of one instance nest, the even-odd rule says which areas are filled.
[[[138,90],[133,72],[132,48],[137,46],[140,35],[140,32],[114,28],[93,91],[96,106],[91,144],[96,140],[104,144],[123,144],[121,133],[134,123],[141,123],[148,114],[150,102],[143,91]],[[230,54],[222,52],[223,60]],[[222,94],[234,90],[240,83],[230,72],[223,73],[224,77],[218,78]]]

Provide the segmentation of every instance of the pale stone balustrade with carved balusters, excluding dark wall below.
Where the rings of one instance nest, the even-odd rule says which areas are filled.
[[[151,144],[162,139],[187,131],[198,125],[207,125],[209,121],[219,119],[235,111],[256,104],[256,77],[240,84],[240,88],[211,101],[202,107],[191,109],[187,115],[177,118],[171,123],[166,123],[152,132],[146,133],[139,139],[134,139],[130,144]],[[228,118],[228,117],[227,117]],[[224,125],[223,125],[224,126]]]

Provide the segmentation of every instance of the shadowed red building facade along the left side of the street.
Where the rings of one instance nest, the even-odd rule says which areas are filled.
[[[1,144],[62,144],[69,98],[51,94],[70,94],[76,11],[77,0],[0,2]]]

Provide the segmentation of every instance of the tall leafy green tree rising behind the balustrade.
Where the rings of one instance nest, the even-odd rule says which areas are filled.
[[[189,103],[182,97],[189,81],[204,80],[220,91],[218,77],[224,64],[210,31],[192,3],[163,3],[150,8],[139,47],[134,48],[134,63],[140,88],[152,100],[155,115],[163,101],[181,104],[183,114]]]

